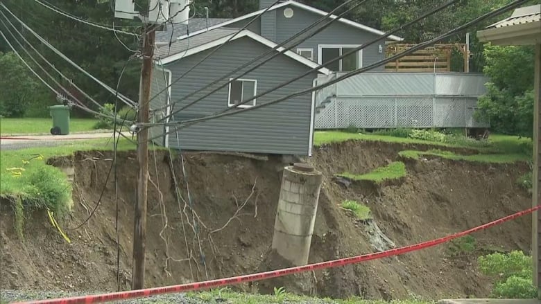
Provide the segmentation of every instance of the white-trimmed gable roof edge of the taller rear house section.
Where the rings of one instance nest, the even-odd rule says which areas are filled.
[[[272,6],[269,10],[277,10],[278,8],[282,8],[284,6],[296,6],[298,8],[302,8],[303,10],[307,10],[309,12],[314,12],[314,13],[316,13],[318,15],[322,15],[322,16],[325,16],[325,15],[327,15],[329,13],[329,12],[325,12],[324,10],[319,10],[319,9],[311,7],[311,6],[307,6],[306,4],[302,4],[302,3],[299,3],[299,2],[294,1],[294,0],[284,1],[282,3],[279,3],[279,4],[275,5],[275,6]],[[224,22],[222,22],[220,24],[216,24],[214,26],[209,26],[209,30],[212,30],[214,28],[221,28],[223,26],[233,24],[234,22],[241,21],[243,19],[247,19],[247,18],[250,18],[250,17],[254,17],[256,15],[261,14],[261,12],[264,12],[265,10],[266,10],[266,8],[261,9],[261,10],[257,10],[255,12],[250,12],[250,14],[246,14],[246,15],[243,15],[241,17],[237,17],[237,18],[234,18],[234,19],[229,19],[227,21],[224,21]],[[330,18],[336,19],[337,16],[336,15],[330,15]],[[385,34],[385,32],[383,32],[381,30],[377,30],[376,28],[371,28],[370,26],[365,26],[363,24],[359,24],[359,23],[357,23],[355,21],[351,21],[349,19],[341,18],[341,19],[338,19],[338,21],[343,23],[343,24],[353,26],[354,28],[359,28],[361,30],[366,30],[367,32],[374,33],[374,34],[377,34],[377,35],[384,35]],[[205,31],[205,30],[206,30],[206,28],[203,29],[203,30],[198,30],[196,32],[193,32],[191,35],[198,35],[199,33],[203,33],[203,31]],[[178,37],[178,39],[182,40],[182,39],[185,39],[188,36],[189,35],[182,35],[182,36]],[[388,38],[391,39],[391,40],[395,40],[395,41],[404,40],[403,38],[395,36],[395,35],[390,35]]]

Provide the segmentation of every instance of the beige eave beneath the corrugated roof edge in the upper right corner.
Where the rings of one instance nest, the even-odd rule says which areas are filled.
[[[479,30],[477,37],[498,46],[541,44],[541,21]]]

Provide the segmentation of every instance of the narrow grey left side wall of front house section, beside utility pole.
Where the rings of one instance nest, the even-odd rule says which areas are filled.
[[[151,85],[151,98],[156,96],[151,100],[150,107],[151,107],[151,123],[157,123],[159,120],[162,120],[166,116],[166,109],[165,106],[167,105],[167,97],[169,96],[168,91],[162,91],[167,84],[169,83],[169,74],[164,73],[164,71],[160,68],[154,67],[152,71],[152,85]],[[160,95],[157,95],[160,93]],[[164,134],[164,127],[163,126],[156,126],[151,127],[151,129],[148,130],[148,138],[153,138],[159,135]],[[153,142],[157,145],[164,145],[165,144],[165,136],[160,136],[155,139],[153,139]]]

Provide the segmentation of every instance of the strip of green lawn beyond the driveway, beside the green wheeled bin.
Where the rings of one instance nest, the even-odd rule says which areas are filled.
[[[71,118],[69,132],[86,132],[94,130],[96,120]],[[49,134],[52,127],[51,118],[0,118],[0,134]]]

